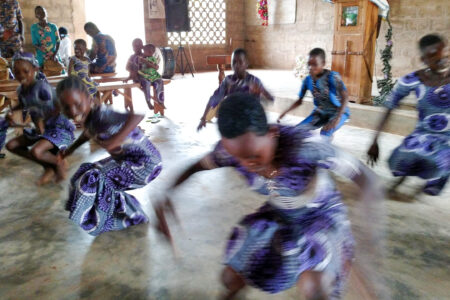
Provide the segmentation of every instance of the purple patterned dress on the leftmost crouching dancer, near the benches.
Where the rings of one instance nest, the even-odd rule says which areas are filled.
[[[34,122],[44,120],[44,132],[41,135],[34,129],[24,129],[27,139],[46,139],[58,150],[66,149],[72,144],[75,126],[59,112],[55,90],[46,80],[36,80],[35,84],[27,89],[20,86],[17,95],[24,113],[29,113]]]

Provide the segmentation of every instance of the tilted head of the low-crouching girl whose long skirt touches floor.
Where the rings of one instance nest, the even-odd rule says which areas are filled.
[[[69,76],[61,80],[56,87],[56,96],[68,118],[84,123],[91,110],[91,96],[81,79]]]

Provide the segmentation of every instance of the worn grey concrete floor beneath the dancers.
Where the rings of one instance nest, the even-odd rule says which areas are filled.
[[[276,90],[277,82],[265,82]],[[215,73],[196,74],[166,86],[167,119],[141,126],[159,148],[164,171],[146,188],[133,191],[154,221],[151,202],[165,195],[167,185],[185,166],[217,141],[215,125],[195,131],[208,96],[217,86]],[[135,91],[136,107],[145,109]],[[121,101],[116,101],[117,105]],[[277,115],[270,114],[271,120]],[[300,119],[287,117],[286,123]],[[364,159],[370,130],[344,126],[334,143]],[[385,183],[390,151],[402,137],[385,134],[381,163],[374,170]],[[84,161],[106,153],[86,144],[69,158],[70,174]],[[37,188],[41,170],[11,154],[0,160],[0,299],[215,299],[222,291],[218,276],[222,250],[231,227],[262,204],[233,170],[193,176],[174,194],[182,226],[175,230],[178,258],[150,225],[140,225],[93,238],[71,223],[64,211],[68,181]],[[407,181],[402,192],[413,194],[420,184]],[[340,182],[350,207],[361,261],[367,224],[356,189]],[[385,256],[378,268],[379,287],[392,299],[450,299],[450,189],[439,197],[402,201],[386,199]],[[349,282],[345,299],[364,299],[357,281]],[[248,289],[240,299],[298,299],[296,289],[266,295]]]

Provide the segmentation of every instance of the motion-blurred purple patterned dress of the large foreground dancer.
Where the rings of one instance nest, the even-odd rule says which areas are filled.
[[[292,287],[302,272],[323,271],[332,276],[332,296],[339,298],[354,240],[347,209],[327,170],[353,178],[360,162],[301,128],[279,128],[276,155],[282,162],[274,178],[249,172],[220,143],[202,161],[208,169],[236,168],[268,199],[232,230],[225,264],[269,293]]]

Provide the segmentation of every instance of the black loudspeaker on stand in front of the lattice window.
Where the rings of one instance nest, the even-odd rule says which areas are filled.
[[[167,32],[190,31],[189,0],[165,0]]]

